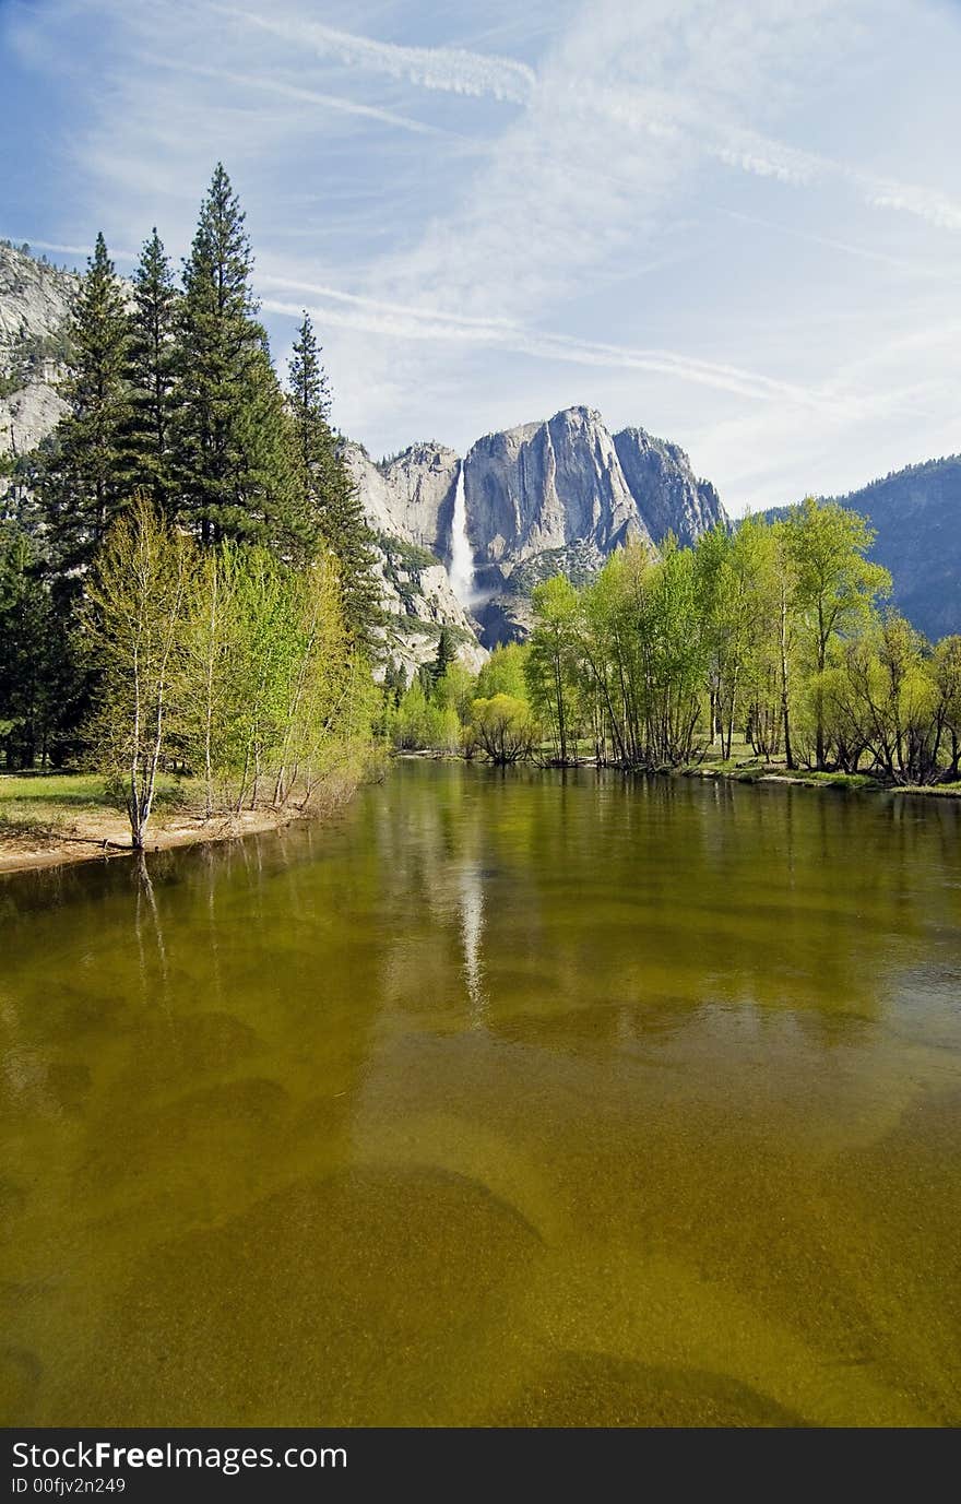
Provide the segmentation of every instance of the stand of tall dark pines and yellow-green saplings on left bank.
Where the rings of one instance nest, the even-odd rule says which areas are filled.
[[[155,229],[123,284],[98,236],[36,353],[57,423],[6,462],[5,758],[99,769],[134,845],[162,769],[202,784],[208,815],[304,805],[370,738],[373,537],[310,319],[284,390],[251,271],[221,165],[180,275]],[[30,337],[8,340],[11,382]]]

